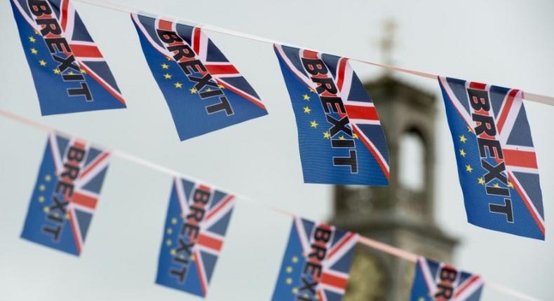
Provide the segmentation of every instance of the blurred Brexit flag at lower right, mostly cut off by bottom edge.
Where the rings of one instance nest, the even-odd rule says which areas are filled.
[[[479,275],[420,257],[410,301],[479,301],[483,284]]]

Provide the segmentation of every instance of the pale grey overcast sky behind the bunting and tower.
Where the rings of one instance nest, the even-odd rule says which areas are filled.
[[[518,87],[554,96],[552,1],[123,1],[305,45],[381,61],[384,20],[398,23],[398,66]],[[0,109],[190,174],[316,221],[332,215],[331,186],[302,183],[290,99],[271,45],[208,33],[255,87],[269,116],[180,142],[146,64],[129,15],[74,3],[116,77],[128,109],[41,117],[8,1],[3,29]],[[327,22],[311,22],[312,14]],[[353,64],[360,78],[377,67]],[[403,76],[439,95],[433,80]],[[546,241],[466,223],[450,131],[438,101],[436,215],[461,238],[455,263],[486,280],[553,300],[554,107],[525,102],[546,212]],[[379,109],[379,108],[377,108]],[[114,158],[81,258],[19,238],[46,134],[0,118],[0,300],[201,300],[154,284],[170,176]],[[269,300],[290,218],[238,201],[207,300]],[[485,289],[482,300],[518,300]]]

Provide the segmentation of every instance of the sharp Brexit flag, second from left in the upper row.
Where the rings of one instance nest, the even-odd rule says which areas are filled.
[[[181,140],[267,114],[258,94],[199,27],[131,18]]]

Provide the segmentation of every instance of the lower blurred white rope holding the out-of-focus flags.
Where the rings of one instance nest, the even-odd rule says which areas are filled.
[[[50,127],[50,126],[44,125],[42,123],[37,123],[34,120],[31,120],[29,118],[25,118],[23,116],[19,116],[17,114],[14,114],[14,113],[11,113],[11,112],[8,112],[8,111],[4,111],[2,109],[0,109],[0,116],[4,116],[5,118],[17,121],[18,123],[22,123],[22,124],[25,124],[25,125],[29,125],[31,127],[35,127],[36,129],[39,129],[43,132],[47,132],[47,133],[49,133],[49,132],[58,132],[60,134],[64,134],[64,135],[67,135],[67,136],[70,136],[70,137],[76,137],[72,134],[67,134],[65,132],[56,130],[54,127]],[[88,139],[83,139],[83,140],[88,141]],[[185,179],[189,179],[191,181],[207,183],[205,181],[201,181],[201,180],[198,180],[198,179],[194,178],[194,176],[189,176],[187,174],[182,174],[182,173],[177,172],[177,171],[175,171],[173,169],[170,169],[168,167],[164,167],[163,165],[158,165],[157,163],[150,162],[148,160],[137,157],[135,155],[131,155],[130,153],[126,153],[124,151],[120,151],[120,150],[115,149],[115,148],[107,148],[107,147],[101,146],[101,145],[98,145],[98,146],[100,146],[104,149],[111,150],[112,154],[116,157],[119,157],[119,158],[124,159],[124,160],[128,160],[130,162],[134,162],[137,165],[142,165],[144,167],[148,167],[150,169],[157,170],[158,172],[161,172],[163,174],[169,174],[171,176],[180,176],[180,177],[183,177]],[[210,183],[210,185],[211,185],[211,183]],[[224,190],[224,191],[227,191],[227,192],[232,191],[232,190],[227,190],[227,189],[224,189],[224,188],[219,188],[219,187],[217,187],[217,188],[219,190]],[[281,214],[286,214],[286,215],[289,215],[289,216],[296,216],[296,214],[293,214],[292,212],[269,206],[269,205],[264,204],[262,202],[259,202],[257,200],[253,200],[250,197],[246,197],[244,195],[238,195],[238,194],[234,194],[234,195],[236,195],[236,197],[238,197],[238,200],[245,200],[245,201],[248,201],[248,202],[252,202],[253,204],[257,204],[259,206],[265,207],[266,209],[270,209],[272,211],[276,211],[276,212],[279,212]],[[406,251],[406,250],[403,250],[401,248],[396,248],[396,246],[391,246],[389,244],[385,244],[381,241],[370,239],[369,237],[364,237],[362,235],[360,235],[360,237],[358,239],[358,243],[363,244],[365,246],[369,246],[370,248],[374,248],[374,249],[379,250],[381,252],[396,256],[398,258],[402,258],[404,260],[411,261],[411,262],[416,262],[416,260],[419,256],[419,255],[417,255],[415,253],[412,253],[410,251]],[[490,281],[486,281],[486,285],[487,285],[487,287],[492,288],[493,290],[496,290],[499,293],[504,293],[505,295],[511,295],[513,297],[518,297],[521,300],[543,301],[543,300],[537,299],[535,297],[531,297],[531,296],[529,296],[525,293],[520,293],[517,290],[513,290],[511,288],[506,288],[505,286],[501,286],[499,284],[492,283]]]

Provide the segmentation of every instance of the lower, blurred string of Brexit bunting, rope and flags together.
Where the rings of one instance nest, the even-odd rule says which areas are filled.
[[[303,290],[312,293],[312,297],[320,296],[315,300],[341,300],[346,290],[356,244],[362,244],[416,264],[410,300],[435,300],[435,297],[441,296],[447,297],[445,300],[450,300],[454,294],[457,297],[456,300],[479,300],[482,288],[485,286],[485,281],[479,275],[461,271],[447,263],[435,262],[353,232],[344,232],[332,225],[299,218],[291,212],[244,195],[227,193],[229,190],[206,184],[192,176],[125,151],[97,144],[93,146],[86,139],[75,137],[15,113],[0,109],[0,116],[48,133],[44,158],[22,232],[22,238],[37,244],[74,255],[81,253],[93,209],[100,196],[102,182],[108,169],[108,161],[113,156],[173,176],[174,183],[164,229],[173,229],[177,224],[176,228],[181,229],[180,232],[184,235],[164,233],[156,276],[156,283],[162,286],[205,297],[210,283],[210,278],[206,277],[206,271],[203,271],[206,267],[199,264],[190,272],[187,272],[187,267],[191,262],[201,262],[204,258],[211,261],[213,258],[207,257],[213,257],[214,254],[217,260],[236,200],[251,202],[292,217],[288,245],[285,248],[281,272],[271,300],[289,300],[296,294],[304,293]],[[50,178],[52,175],[58,177],[58,181],[52,181],[53,179]],[[52,185],[48,185],[48,182]],[[42,195],[53,195],[53,200],[49,203]],[[175,212],[181,214],[175,214]],[[38,218],[42,214],[46,214],[45,223],[42,222],[43,218]],[[175,216],[182,218],[175,218]],[[221,224],[222,221],[224,225]],[[214,224],[218,226],[213,227]],[[65,225],[70,227],[69,232],[62,231]],[[194,239],[187,236],[191,233],[194,233],[190,236]],[[166,244],[167,241],[174,240],[179,247],[172,248],[172,244]],[[340,257],[327,255],[327,253],[332,255],[338,253]],[[297,254],[304,255],[296,257]],[[286,262],[290,258],[300,260],[304,264],[304,271],[311,271],[309,276],[313,276],[306,278],[307,275],[299,274],[297,279],[302,281],[311,279],[310,281],[313,282],[293,283],[297,284],[292,290],[293,295],[290,295],[291,283],[286,280],[291,279],[290,269],[288,269],[290,267]],[[317,259],[314,261],[313,258]],[[339,260],[340,264],[337,263]],[[215,269],[215,262],[208,274],[211,275],[214,272],[213,269]],[[299,272],[302,272],[302,269],[299,269]],[[316,274],[321,276],[315,276]],[[282,279],[283,277],[286,279]],[[517,297],[520,300],[541,301],[536,297],[490,281],[486,281],[486,285],[499,293]],[[328,289],[330,286],[331,289]],[[431,297],[433,299],[430,299]]]

